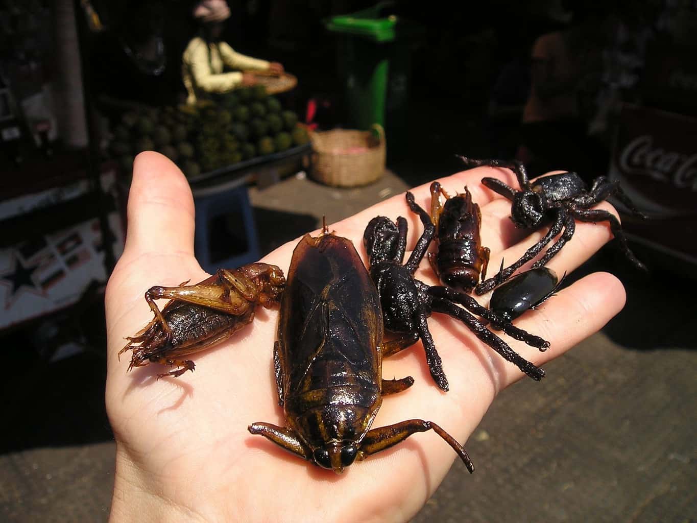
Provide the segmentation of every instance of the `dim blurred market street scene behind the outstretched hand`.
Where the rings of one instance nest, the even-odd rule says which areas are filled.
[[[231,0],[217,33],[200,4],[0,1],[0,519],[107,520],[104,288],[133,157],[157,150],[190,181],[209,272],[457,154],[620,180],[650,272],[611,243],[568,278],[615,273],[627,307],[501,395],[477,473],[454,467],[415,520],[694,521],[697,2]],[[208,52],[225,80],[192,88],[196,38],[257,59],[251,77]]]

